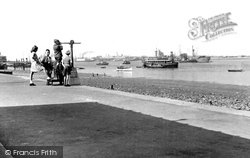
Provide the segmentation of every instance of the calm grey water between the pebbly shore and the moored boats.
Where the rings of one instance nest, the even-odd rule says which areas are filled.
[[[131,72],[117,72],[116,67],[122,61],[110,61],[109,65],[96,65],[96,62],[75,62],[76,67],[84,67],[78,72],[107,74],[121,77],[145,77],[153,79],[186,80],[215,82],[222,84],[250,86],[250,58],[212,59],[210,63],[179,63],[177,69],[136,68],[142,66],[141,61],[132,61]],[[244,72],[228,72],[228,69],[243,68]]]

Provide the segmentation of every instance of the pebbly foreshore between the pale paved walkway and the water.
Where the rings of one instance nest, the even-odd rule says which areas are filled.
[[[14,70],[13,75],[28,76],[29,70]],[[111,77],[104,74],[79,73],[82,85],[130,93],[199,103],[201,106],[250,110],[250,87],[208,82],[173,81],[146,78]],[[43,72],[34,78],[44,78]]]

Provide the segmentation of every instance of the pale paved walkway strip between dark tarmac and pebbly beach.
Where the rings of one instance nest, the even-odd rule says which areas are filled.
[[[98,102],[204,129],[250,139],[250,112],[87,86],[46,86],[28,77],[0,74],[0,107]]]

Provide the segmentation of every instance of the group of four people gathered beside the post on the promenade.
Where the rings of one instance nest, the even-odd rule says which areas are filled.
[[[63,84],[64,86],[70,86],[70,74],[72,70],[72,61],[70,58],[70,51],[66,51],[66,56],[63,58],[62,50],[63,46],[61,45],[61,42],[58,39],[54,40],[54,57],[55,57],[55,64],[53,64],[51,56],[50,56],[50,50],[45,50],[45,55],[42,59],[39,59],[36,52],[38,50],[38,47],[34,45],[31,49],[31,68],[30,68],[30,86],[36,86],[33,82],[33,75],[34,73],[38,71],[45,70],[45,73],[47,75],[47,85],[49,85],[50,81],[52,80],[52,72],[53,70],[57,70],[60,65],[63,66]]]

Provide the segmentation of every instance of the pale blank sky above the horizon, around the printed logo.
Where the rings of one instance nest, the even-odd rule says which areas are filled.
[[[6,0],[0,2],[0,52],[8,60],[53,55],[54,39],[81,42],[74,56],[152,56],[156,48],[168,55],[250,55],[247,1],[236,0]],[[192,40],[189,20],[230,12],[236,23],[232,34],[206,41]],[[63,45],[63,53],[70,49]],[[86,56],[86,55],[85,55]]]

